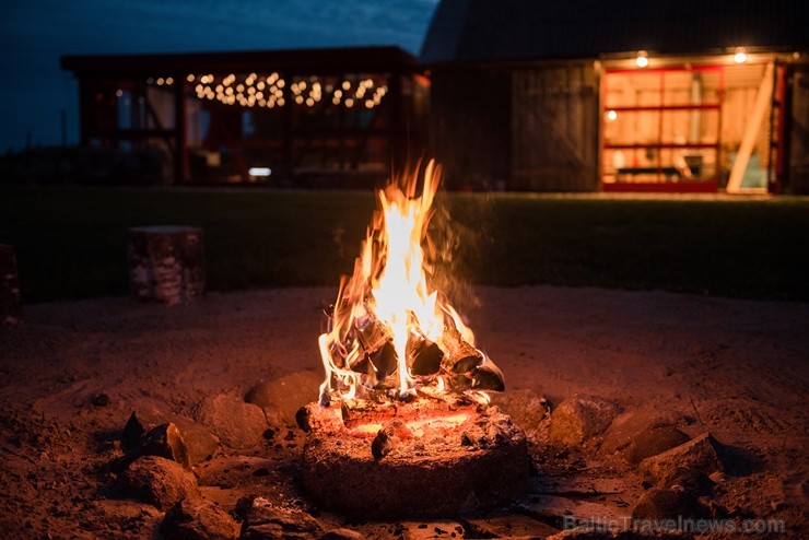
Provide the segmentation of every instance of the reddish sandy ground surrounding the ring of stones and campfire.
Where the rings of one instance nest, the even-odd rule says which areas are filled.
[[[551,403],[586,392],[689,419],[689,435],[710,431],[746,456],[725,481],[724,505],[785,519],[796,538],[809,532],[808,304],[548,286],[476,292],[470,326],[509,389]],[[319,375],[320,310],[335,293],[210,294],[172,308],[127,298],[27,306],[23,324],[0,330],[2,536],[159,538],[162,514],[116,497],[104,470],[120,455],[130,413],[184,416],[209,396]],[[93,404],[102,394],[109,402]],[[289,399],[316,394],[312,385]],[[267,445],[280,454],[267,461],[270,474],[249,479],[254,492],[271,493],[282,481],[275,470],[294,463],[300,435],[284,441]],[[262,448],[242,455],[269,459]],[[207,466],[219,481],[200,483],[230,509],[244,490],[221,480],[222,462]]]

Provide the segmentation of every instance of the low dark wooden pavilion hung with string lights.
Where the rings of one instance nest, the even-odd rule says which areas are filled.
[[[81,143],[157,149],[167,183],[365,187],[425,145],[429,80],[397,47],[67,56]]]

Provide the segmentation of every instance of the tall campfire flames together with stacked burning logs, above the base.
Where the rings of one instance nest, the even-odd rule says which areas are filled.
[[[474,348],[472,331],[431,283],[434,244],[427,233],[439,167],[427,164],[377,196],[353,275],[343,279],[318,340],[326,369],[320,403],[373,396],[406,399],[453,390],[488,402],[503,375]]]

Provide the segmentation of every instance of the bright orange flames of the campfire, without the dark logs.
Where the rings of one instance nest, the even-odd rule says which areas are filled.
[[[474,344],[471,330],[429,281],[432,257],[424,248],[432,245],[427,226],[441,167],[433,161],[427,163],[417,197],[418,180],[417,169],[377,192],[379,210],[353,274],[342,280],[330,328],[318,340],[326,369],[321,403],[328,402],[335,391],[341,399],[351,400],[371,388],[396,391],[404,398],[414,392],[417,383],[441,392],[441,374],[412,374],[409,345],[432,342],[441,347],[447,326]],[[371,359],[372,354],[376,356]],[[395,385],[389,377],[396,377]]]

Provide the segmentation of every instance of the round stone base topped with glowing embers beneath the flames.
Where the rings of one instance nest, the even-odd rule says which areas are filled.
[[[496,408],[417,398],[352,403],[348,418],[342,408],[307,409],[302,478],[326,508],[363,518],[446,516],[527,489],[525,434]]]

